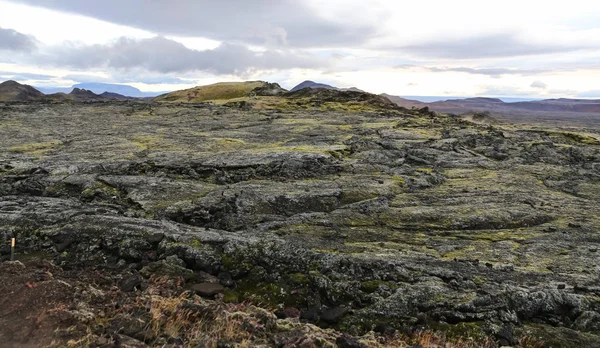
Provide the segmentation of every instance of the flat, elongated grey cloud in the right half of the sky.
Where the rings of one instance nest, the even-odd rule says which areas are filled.
[[[589,49],[575,44],[538,44],[526,42],[515,33],[485,35],[472,38],[429,41],[414,45],[388,47],[422,57],[472,59],[516,57]]]

